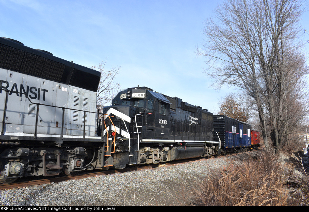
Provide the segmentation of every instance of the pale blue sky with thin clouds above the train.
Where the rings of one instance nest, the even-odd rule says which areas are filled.
[[[0,0],[0,36],[89,68],[106,60],[105,69],[121,66],[121,89],[146,86],[215,113],[235,90],[212,88],[195,51],[219,2]]]

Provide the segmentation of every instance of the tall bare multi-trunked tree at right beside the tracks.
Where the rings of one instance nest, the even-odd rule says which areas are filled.
[[[287,138],[291,111],[302,101],[293,94],[308,73],[297,42],[303,8],[299,0],[228,0],[205,22],[204,48],[197,49],[216,85],[236,86],[253,98],[266,148],[267,135],[276,147]],[[294,115],[301,118],[304,110],[307,105]]]

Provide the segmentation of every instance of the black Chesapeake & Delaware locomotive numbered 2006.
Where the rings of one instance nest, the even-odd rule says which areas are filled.
[[[119,135],[110,164],[116,168],[218,154],[213,114],[180,98],[147,87],[129,88],[103,113],[112,116],[104,133],[114,130]]]

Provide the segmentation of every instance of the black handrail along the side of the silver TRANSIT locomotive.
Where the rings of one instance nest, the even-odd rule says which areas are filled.
[[[3,89],[1,88],[1,90],[4,90],[6,93],[6,97],[5,97],[5,103],[4,103],[4,109],[3,109],[3,118],[2,118],[2,131],[1,134],[4,135],[4,125],[5,125],[5,118],[6,118],[6,108],[7,108],[7,102],[8,102],[8,96],[9,96],[9,92],[10,93],[15,93],[15,94],[20,94],[21,95],[25,95],[25,97],[29,100],[29,102],[31,104],[35,104],[36,105],[36,123],[35,123],[35,132],[34,132],[34,139],[37,138],[37,125],[38,125],[38,115],[39,115],[39,107],[40,105],[42,106],[49,106],[49,107],[54,107],[54,108],[61,108],[62,109],[62,124],[61,124],[61,140],[63,140],[63,129],[64,129],[64,110],[68,109],[68,110],[76,110],[76,111],[82,111],[84,113],[84,120],[83,120],[83,140],[85,140],[85,128],[86,128],[86,112],[88,113],[95,113],[95,114],[102,114],[102,116],[104,116],[103,113],[99,113],[99,112],[92,112],[92,111],[86,111],[86,110],[78,110],[78,109],[73,109],[73,108],[68,108],[68,107],[60,107],[60,106],[54,106],[54,105],[46,105],[46,104],[42,104],[42,103],[35,103],[32,102],[30,100],[30,98],[28,97],[27,94],[22,93],[22,92],[17,92],[17,91],[12,91],[12,90],[7,90],[7,89]],[[101,140],[103,140],[103,135],[101,133]]]

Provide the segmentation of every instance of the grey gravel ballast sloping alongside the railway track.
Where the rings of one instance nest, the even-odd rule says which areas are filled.
[[[229,156],[59,183],[0,190],[2,206],[180,206]]]

